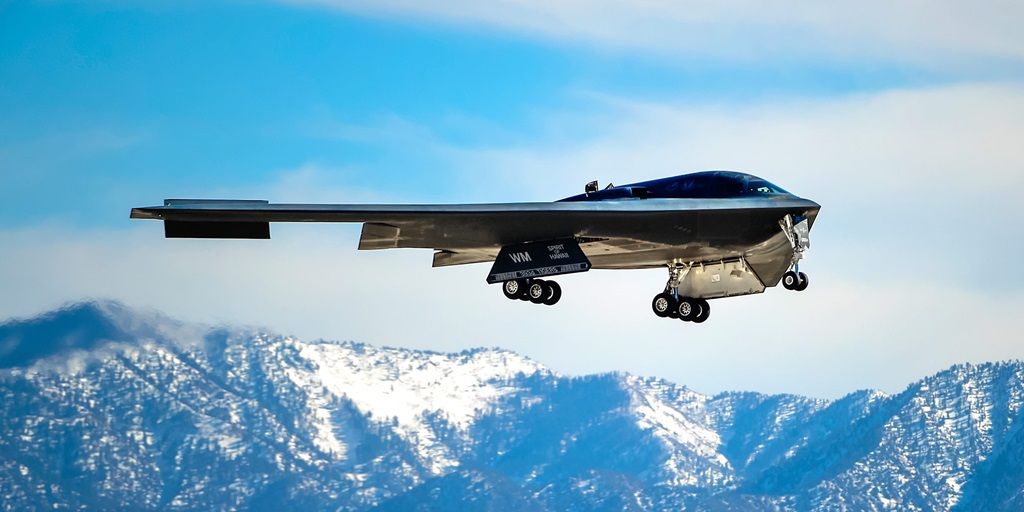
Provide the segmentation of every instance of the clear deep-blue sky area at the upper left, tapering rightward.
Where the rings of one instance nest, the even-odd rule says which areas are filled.
[[[891,62],[682,59],[279,4],[156,5],[5,7],[5,223],[55,213],[32,207],[46,198],[69,209],[61,218],[87,206],[76,222],[109,224],[112,187],[195,195],[309,161],[365,166],[368,184],[403,197],[460,200],[443,162],[334,125],[400,119],[459,146],[529,144],[586,136],[551,133],[539,113],[599,108],[587,92],[750,102],[941,80]]]

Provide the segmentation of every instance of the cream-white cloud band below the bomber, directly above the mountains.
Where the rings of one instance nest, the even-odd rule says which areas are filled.
[[[554,307],[505,299],[486,265],[431,269],[428,251],[357,252],[357,228],[286,226],[263,241],[167,241],[55,226],[0,233],[0,311],[29,315],[111,297],[207,323],[267,326],[305,339],[432,350],[502,346],[569,374],[628,371],[702,392],[838,396],[897,391],[964,360],[1019,356],[1024,297],[965,293],[922,275],[890,290],[827,264],[802,294],[713,301],[696,326],[655,317],[660,271],[560,279]],[[827,263],[827,262],[822,262]]]

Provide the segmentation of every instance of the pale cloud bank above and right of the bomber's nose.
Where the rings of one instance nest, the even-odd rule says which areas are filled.
[[[1024,87],[962,85],[748,106],[608,100],[604,133],[574,143],[455,155],[506,196],[553,200],[583,183],[701,169],[760,175],[822,205],[812,239],[879,282],[928,272],[982,288],[973,262],[1024,249]],[[555,114],[577,122],[574,114]],[[590,119],[587,116],[586,119]],[[476,174],[467,172],[467,181]],[[811,263],[813,264],[813,262]]]

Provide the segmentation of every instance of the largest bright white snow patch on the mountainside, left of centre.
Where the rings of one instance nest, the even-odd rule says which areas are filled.
[[[356,343],[301,343],[299,357],[312,371],[292,368],[290,379],[314,393],[309,414],[316,418],[316,444],[329,453],[343,446],[333,436],[331,402],[325,393],[348,400],[361,413],[389,423],[416,446],[435,475],[459,465],[458,454],[434,428],[437,414],[465,436],[474,419],[505,395],[517,391],[516,378],[550,374],[513,352],[472,350],[459,354],[374,348]]]

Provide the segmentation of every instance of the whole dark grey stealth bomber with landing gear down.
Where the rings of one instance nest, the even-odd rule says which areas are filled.
[[[756,176],[703,171],[599,189],[553,203],[305,205],[169,199],[133,208],[165,237],[269,239],[270,222],[361,222],[359,250],[433,249],[433,266],[492,262],[506,297],[554,304],[554,275],[592,268],[666,268],[651,307],[701,323],[709,299],[803,291],[800,261],[820,206]]]

